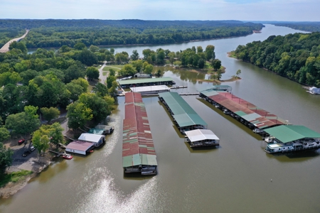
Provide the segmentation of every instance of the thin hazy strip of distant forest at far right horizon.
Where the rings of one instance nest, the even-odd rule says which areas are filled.
[[[303,21],[303,22],[270,22],[275,26],[286,26],[288,28],[293,28],[299,31],[307,32],[320,32],[320,22],[316,21]]]

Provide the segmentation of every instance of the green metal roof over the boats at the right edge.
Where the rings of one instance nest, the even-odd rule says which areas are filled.
[[[296,141],[302,138],[320,138],[320,133],[307,128],[306,126],[282,125],[265,129],[270,136],[274,136],[282,143]]]

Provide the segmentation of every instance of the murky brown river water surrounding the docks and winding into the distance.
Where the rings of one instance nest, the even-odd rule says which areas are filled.
[[[294,32],[267,26],[260,34],[242,38],[161,48],[183,50],[193,45],[215,45],[217,58],[227,68],[224,79],[242,70],[242,80],[225,83],[233,87],[233,94],[292,124],[320,132],[320,96],[306,93],[296,82],[226,55],[239,44]],[[131,53],[130,48],[116,51]],[[173,77],[177,85],[188,85],[178,92],[196,92],[212,85],[197,82],[195,72],[167,70],[164,76]],[[189,148],[158,98],[146,97],[143,100],[159,174],[124,175],[124,98],[120,97],[119,107],[109,121],[115,131],[107,136],[105,146],[87,157],[75,156],[50,165],[14,197],[0,200],[0,212],[320,212],[320,151],[269,155],[263,151],[266,143],[261,137],[235,119],[196,96],[183,98],[220,138],[218,148]]]

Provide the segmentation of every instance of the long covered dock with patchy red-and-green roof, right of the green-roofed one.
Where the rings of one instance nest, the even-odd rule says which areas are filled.
[[[235,95],[231,94],[230,89],[217,90],[215,88],[201,91],[199,96],[215,107],[223,110],[223,113],[230,114],[233,118],[245,124],[255,133],[265,133],[265,129],[272,126],[279,126],[282,124],[289,124],[288,121],[279,118],[269,111],[260,109],[259,107],[247,102]]]

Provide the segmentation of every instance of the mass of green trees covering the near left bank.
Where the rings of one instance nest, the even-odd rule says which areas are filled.
[[[0,175],[11,164],[13,153],[1,142],[32,134],[39,153],[48,143],[63,143],[60,124],[41,126],[40,116],[51,121],[60,109],[67,109],[70,129],[82,128],[90,120],[99,122],[110,114],[117,88],[110,73],[107,84],[97,82],[88,92],[87,80],[99,78],[99,71],[91,66],[97,55],[90,49],[60,48],[55,53],[39,48],[28,54],[26,45],[16,42],[9,49],[0,53]]]

